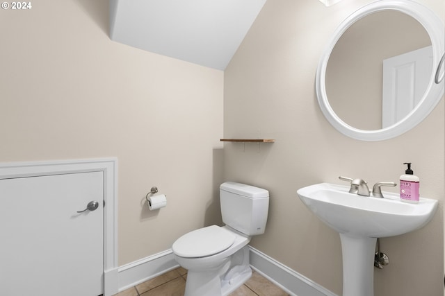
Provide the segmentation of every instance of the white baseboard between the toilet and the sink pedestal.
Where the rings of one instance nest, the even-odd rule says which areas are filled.
[[[250,247],[250,246],[249,246]],[[250,247],[250,265],[274,284],[293,296],[337,296],[304,275]]]

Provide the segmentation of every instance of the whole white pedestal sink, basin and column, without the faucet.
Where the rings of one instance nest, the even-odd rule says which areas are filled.
[[[410,204],[398,194],[373,198],[349,193],[349,186],[315,184],[298,189],[302,202],[340,234],[343,254],[343,296],[373,296],[377,238],[419,229],[434,216],[437,200],[420,198]]]

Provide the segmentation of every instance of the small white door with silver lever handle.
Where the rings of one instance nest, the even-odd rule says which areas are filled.
[[[102,171],[0,180],[0,294],[101,295],[103,200]]]

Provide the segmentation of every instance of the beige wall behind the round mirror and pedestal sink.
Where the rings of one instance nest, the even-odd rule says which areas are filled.
[[[273,144],[225,144],[225,179],[270,190],[266,233],[252,246],[341,295],[339,235],[305,208],[297,189],[337,177],[398,182],[403,162],[421,178],[421,195],[440,201],[416,232],[382,238],[391,263],[375,270],[375,295],[442,295],[444,100],[416,128],[395,139],[343,136],[316,101],[318,59],[338,24],[370,0],[325,8],[316,0],[267,1],[225,70],[225,137],[273,138]],[[442,0],[421,1],[444,18]],[[359,112],[359,110],[357,110]],[[398,187],[394,189],[398,190]]]

